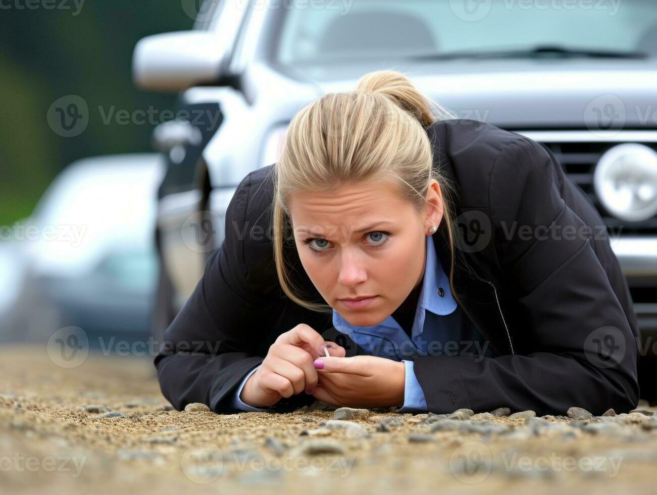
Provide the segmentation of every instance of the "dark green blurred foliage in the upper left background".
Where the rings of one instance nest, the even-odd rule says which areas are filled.
[[[35,0],[0,5],[0,225],[28,216],[78,158],[150,151],[152,125],[106,125],[97,107],[175,108],[175,94],[135,88],[132,51],[141,37],[193,26],[181,0],[85,0],[77,16],[72,0],[54,2],[70,10],[47,10],[43,0],[28,9],[26,1]],[[76,137],[47,124],[48,108],[65,95],[89,105],[89,126]]]

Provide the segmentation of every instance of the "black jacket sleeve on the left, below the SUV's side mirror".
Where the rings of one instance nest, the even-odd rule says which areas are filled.
[[[177,410],[200,402],[217,413],[239,412],[233,407],[234,391],[273,344],[265,338],[267,297],[257,277],[248,278],[244,258],[250,179],[248,174],[238,185],[227,208],[224,241],[166,329],[154,360],[162,394]],[[265,409],[293,410],[313,400],[301,393]]]

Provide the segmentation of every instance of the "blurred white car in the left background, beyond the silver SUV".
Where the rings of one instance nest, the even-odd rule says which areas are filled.
[[[2,272],[0,339],[39,342],[67,326],[83,329],[90,345],[96,336],[150,335],[163,172],[155,153],[85,158],[60,172],[0,245],[7,262],[22,267]]]

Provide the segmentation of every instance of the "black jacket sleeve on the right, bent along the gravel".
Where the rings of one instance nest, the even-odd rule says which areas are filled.
[[[554,166],[524,137],[495,159],[488,205],[495,252],[527,321],[509,329],[515,354],[415,358],[429,411],[564,415],[578,406],[600,415],[636,407],[637,342],[591,233],[560,196]]]

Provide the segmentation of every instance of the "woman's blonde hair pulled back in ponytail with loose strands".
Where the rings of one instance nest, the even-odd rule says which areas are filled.
[[[449,285],[459,300],[453,287],[454,243],[458,239],[451,202],[453,186],[434,168],[425,130],[436,120],[449,118],[456,116],[422,95],[405,74],[395,70],[365,74],[355,90],[328,93],[296,113],[281,156],[272,167],[274,260],[279,283],[290,300],[312,311],[332,311],[327,304],[303,300],[286,268],[284,243],[288,239],[294,243],[290,193],[336,191],[347,184],[392,179],[400,196],[421,213],[432,178],[442,191],[443,221],[451,252]]]

